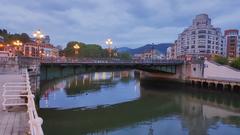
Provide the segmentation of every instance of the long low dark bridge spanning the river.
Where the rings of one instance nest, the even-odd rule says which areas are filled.
[[[5,69],[9,70],[7,64],[9,61],[15,61],[17,68],[28,68],[36,71],[41,78],[49,76],[57,77],[79,74],[83,72],[109,71],[122,69],[139,69],[148,72],[164,72],[168,74],[176,74],[178,68],[184,64],[181,60],[119,60],[119,59],[89,59],[89,58],[49,58],[40,59],[34,57],[16,57],[2,58],[0,61],[4,63]],[[5,62],[3,62],[5,61]],[[11,67],[14,67],[11,62]],[[58,77],[61,77],[58,76]],[[52,78],[52,77],[51,77]]]

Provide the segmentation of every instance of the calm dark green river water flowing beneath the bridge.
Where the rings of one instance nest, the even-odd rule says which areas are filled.
[[[134,71],[40,84],[45,135],[240,135],[240,94]]]

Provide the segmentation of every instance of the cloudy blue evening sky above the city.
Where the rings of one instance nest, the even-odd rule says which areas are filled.
[[[240,0],[0,0],[0,28],[40,29],[54,45],[69,41],[136,48],[173,43],[192,19],[206,13],[215,27],[240,29]]]

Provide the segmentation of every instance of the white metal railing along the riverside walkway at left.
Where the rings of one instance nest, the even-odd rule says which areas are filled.
[[[31,92],[31,86],[29,81],[28,71],[25,70],[24,74],[25,82],[8,82],[3,85],[3,109],[6,110],[7,106],[27,106],[27,112],[29,116],[29,126],[31,135],[44,135],[42,130],[43,120],[40,118],[36,111],[34,95]],[[27,99],[22,101],[22,99]],[[10,102],[10,100],[20,100],[20,102]]]

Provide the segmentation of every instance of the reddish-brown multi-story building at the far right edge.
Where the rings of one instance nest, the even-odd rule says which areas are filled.
[[[232,59],[239,56],[239,31],[236,29],[225,30],[227,57]]]

